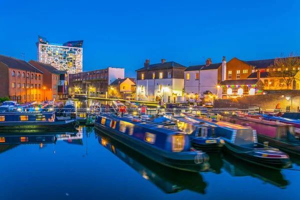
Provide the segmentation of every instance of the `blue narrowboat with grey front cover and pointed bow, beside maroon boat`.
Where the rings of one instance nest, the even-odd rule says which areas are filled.
[[[225,150],[239,159],[271,168],[288,168],[291,166],[291,161],[286,153],[258,143],[254,129],[194,114],[183,115],[215,125],[215,136],[224,139]]]

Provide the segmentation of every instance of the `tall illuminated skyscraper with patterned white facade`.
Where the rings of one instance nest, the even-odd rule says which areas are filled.
[[[82,43],[83,40],[49,43],[45,37],[38,35],[37,61],[68,73],[82,72]]]

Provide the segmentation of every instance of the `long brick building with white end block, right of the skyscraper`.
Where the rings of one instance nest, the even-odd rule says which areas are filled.
[[[69,74],[69,91],[77,97],[106,97],[108,85],[117,78],[124,78],[124,68],[107,67],[92,71]]]

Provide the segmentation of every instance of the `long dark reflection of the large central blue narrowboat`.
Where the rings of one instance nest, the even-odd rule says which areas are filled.
[[[183,189],[205,193],[206,183],[199,173],[182,171],[158,164],[115,139],[105,136],[97,130],[95,132],[101,145],[131,166],[142,177],[153,182],[165,193],[174,193]]]

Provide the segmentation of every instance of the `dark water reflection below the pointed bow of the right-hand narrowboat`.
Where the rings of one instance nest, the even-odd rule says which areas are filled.
[[[266,167],[257,167],[253,164],[242,162],[231,155],[225,154],[223,159],[224,169],[232,176],[252,176],[261,179],[263,182],[271,183],[278,187],[288,185],[280,170]]]

